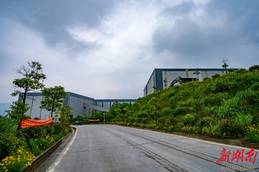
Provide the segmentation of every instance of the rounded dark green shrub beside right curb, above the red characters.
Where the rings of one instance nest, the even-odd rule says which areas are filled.
[[[222,119],[218,122],[221,134],[227,136],[228,139],[235,139],[244,135],[244,124],[232,119]]]

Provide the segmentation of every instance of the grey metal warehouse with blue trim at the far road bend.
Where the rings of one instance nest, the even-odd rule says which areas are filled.
[[[99,99],[95,100],[94,98],[82,96],[79,94],[75,94],[72,92],[67,92],[68,95],[64,98],[63,107],[65,105],[72,106],[73,110],[72,116],[75,117],[77,115],[82,116],[83,113],[87,113],[87,116],[91,116],[91,111],[95,110],[95,112],[99,111],[109,111],[110,107],[114,103],[114,101],[118,100],[119,103],[134,103],[136,99]],[[31,107],[29,111],[25,113],[25,115],[31,116],[31,119],[38,117],[39,119],[46,119],[51,117],[51,111],[47,111],[45,109],[40,109],[39,106],[40,101],[44,99],[41,92],[35,93],[27,93],[28,98],[26,98],[25,103],[29,104]],[[18,101],[22,101],[22,98],[19,97]],[[54,116],[54,113],[53,113]]]

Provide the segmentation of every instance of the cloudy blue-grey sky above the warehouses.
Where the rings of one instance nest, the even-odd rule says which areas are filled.
[[[143,97],[154,68],[259,64],[259,1],[0,0],[0,103],[13,68],[42,64],[45,87]]]

